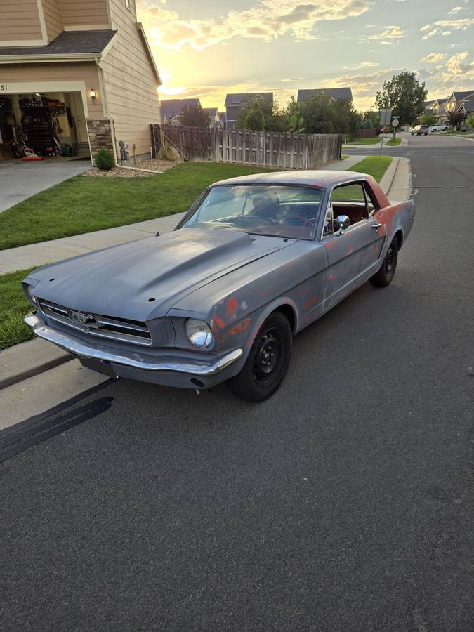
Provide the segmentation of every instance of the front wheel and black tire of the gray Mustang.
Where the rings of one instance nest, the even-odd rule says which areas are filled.
[[[248,402],[273,395],[287,374],[292,345],[287,317],[273,312],[259,329],[242,371],[228,381],[232,393]]]

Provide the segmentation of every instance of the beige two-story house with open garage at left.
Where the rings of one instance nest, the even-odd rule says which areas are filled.
[[[1,0],[0,143],[150,155],[159,72],[135,0]],[[21,137],[21,136],[20,136]]]

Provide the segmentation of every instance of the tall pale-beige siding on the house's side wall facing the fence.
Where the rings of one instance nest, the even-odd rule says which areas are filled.
[[[114,119],[117,142],[129,143],[129,152],[150,152],[150,123],[159,123],[158,83],[147,58],[131,0],[110,0],[114,45],[102,62],[107,106]]]

